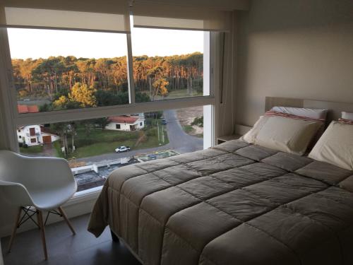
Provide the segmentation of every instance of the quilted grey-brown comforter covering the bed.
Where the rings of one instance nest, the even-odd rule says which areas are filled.
[[[353,172],[228,141],[114,170],[88,230],[143,264],[353,264]]]

